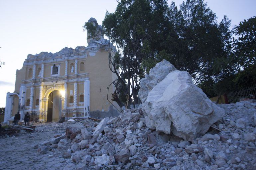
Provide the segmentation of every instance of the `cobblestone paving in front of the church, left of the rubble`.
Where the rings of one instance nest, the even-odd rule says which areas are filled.
[[[47,151],[37,153],[36,144],[65,132],[66,123],[38,124],[33,133],[19,133],[0,139],[0,170],[2,169],[63,169],[68,159]]]

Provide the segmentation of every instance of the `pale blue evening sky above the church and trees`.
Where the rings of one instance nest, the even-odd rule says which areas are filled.
[[[256,0],[205,2],[218,21],[227,15],[231,27],[256,15]],[[114,12],[116,5],[116,0],[0,0],[0,59],[5,62],[0,68],[0,107],[5,107],[6,93],[14,91],[16,69],[28,54],[87,46],[84,22],[93,17],[101,24],[106,10]]]

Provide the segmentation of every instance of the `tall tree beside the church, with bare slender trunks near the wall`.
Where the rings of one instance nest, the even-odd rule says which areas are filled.
[[[118,77],[112,100],[125,102],[125,98],[128,107],[139,104],[140,78],[145,73],[141,63],[146,56],[155,55],[149,44],[158,44],[152,41],[160,40],[157,32],[163,32],[159,30],[168,21],[168,10],[165,0],[121,0],[114,13],[106,13],[102,26],[118,50],[109,60]]]

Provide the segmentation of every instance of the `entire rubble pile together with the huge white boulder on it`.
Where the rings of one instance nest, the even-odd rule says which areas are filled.
[[[167,61],[141,79],[139,97],[118,117],[70,121],[38,152],[62,154],[64,169],[255,169],[256,100],[215,105]]]

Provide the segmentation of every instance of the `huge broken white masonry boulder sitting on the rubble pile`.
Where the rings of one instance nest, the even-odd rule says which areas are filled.
[[[164,66],[168,65],[166,62],[158,63],[157,68],[164,70]],[[166,67],[170,70],[168,66]],[[147,78],[141,79],[142,87],[152,85],[153,80],[148,79],[156,77],[151,74],[160,72],[156,70],[157,68],[154,67],[154,72],[150,71]],[[142,104],[142,109],[146,114],[146,126],[166,134],[172,132],[176,136],[192,141],[198,134],[205,134],[213,123],[224,116],[225,112],[193,84],[188,72],[175,68],[172,70],[149,91]],[[143,94],[142,98],[144,98],[145,88],[140,91],[139,95]]]

